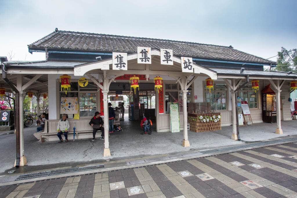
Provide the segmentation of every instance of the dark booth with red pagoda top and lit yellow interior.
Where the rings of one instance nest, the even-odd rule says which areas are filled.
[[[267,85],[262,91],[262,118],[263,122],[276,122],[277,121],[277,104],[275,92]]]

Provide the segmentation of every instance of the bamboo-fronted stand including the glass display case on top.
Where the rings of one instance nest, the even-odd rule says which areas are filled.
[[[221,113],[211,110],[209,102],[188,103],[190,131],[205,132],[221,130]]]

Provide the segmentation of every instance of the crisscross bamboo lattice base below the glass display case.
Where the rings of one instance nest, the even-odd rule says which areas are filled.
[[[217,131],[221,130],[221,119],[219,119],[217,122],[215,121],[206,121],[203,122],[199,119],[200,115],[203,117],[205,116],[217,116],[220,115],[221,113],[203,113],[203,114],[195,114],[195,113],[188,113],[188,123],[190,124],[190,131],[193,132],[206,132],[206,131]]]

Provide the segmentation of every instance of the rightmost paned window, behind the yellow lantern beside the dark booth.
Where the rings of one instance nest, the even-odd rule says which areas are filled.
[[[252,83],[247,83],[239,91],[241,101],[247,101],[249,108],[258,108],[258,91],[252,90]]]

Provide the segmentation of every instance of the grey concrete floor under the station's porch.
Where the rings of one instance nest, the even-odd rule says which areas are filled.
[[[172,154],[189,151],[213,148],[219,146],[242,144],[244,141],[253,142],[268,140],[288,135],[297,135],[297,121],[282,121],[284,134],[275,134],[276,123],[255,123],[249,126],[240,127],[241,141],[231,140],[232,126],[224,126],[220,131],[212,132],[188,132],[190,147],[181,146],[183,132],[153,132],[151,135],[141,135],[140,121],[121,122],[124,132],[114,132],[110,137],[111,159],[128,159],[143,156]],[[105,161],[103,158],[104,140],[91,139],[75,140],[69,142],[38,142],[33,136],[36,126],[24,129],[25,156],[27,167],[73,166],[76,164],[99,163]],[[15,161],[15,134],[0,133],[0,173],[13,167]]]

